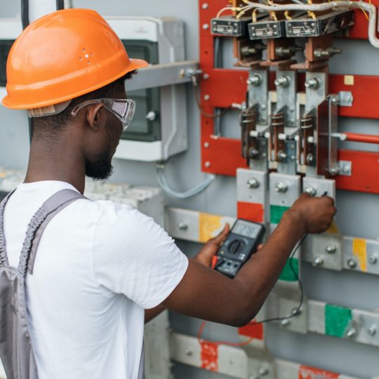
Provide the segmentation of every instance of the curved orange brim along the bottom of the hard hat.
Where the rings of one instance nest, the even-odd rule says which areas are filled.
[[[66,100],[71,100],[73,98],[77,98],[78,96],[85,95],[86,93],[90,93],[92,91],[95,91],[99,88],[102,88],[104,86],[107,86],[107,84],[112,83],[113,81],[116,81],[117,79],[123,77],[124,75],[128,74],[128,72],[135,71],[136,69],[148,67],[149,63],[142,59],[133,59],[129,58],[130,62],[125,67],[124,70],[121,70],[117,75],[115,75],[112,78],[109,78],[106,81],[101,81],[99,84],[96,84],[95,86],[92,86],[91,88],[86,88],[85,91],[79,91],[77,93],[72,93],[69,96],[62,96],[61,98],[54,98],[49,101],[44,102],[29,102],[25,104],[20,104],[17,99],[12,99],[9,95],[6,95],[3,100],[1,100],[1,104],[4,105],[4,107],[10,108],[10,109],[32,109],[37,107],[47,107],[48,105],[54,105],[58,104],[58,102],[64,102]]]

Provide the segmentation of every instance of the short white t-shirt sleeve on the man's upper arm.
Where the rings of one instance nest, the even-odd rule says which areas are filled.
[[[105,202],[93,237],[93,274],[98,284],[149,309],[178,286],[187,266],[187,257],[152,218],[129,206]]]

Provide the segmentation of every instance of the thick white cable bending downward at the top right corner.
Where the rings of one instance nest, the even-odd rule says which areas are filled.
[[[249,9],[258,8],[262,11],[331,11],[335,9],[364,9],[368,12],[368,41],[375,48],[379,48],[379,39],[376,38],[376,7],[364,1],[330,1],[322,4],[272,4],[265,5],[246,1],[248,6],[243,8],[246,13]]]

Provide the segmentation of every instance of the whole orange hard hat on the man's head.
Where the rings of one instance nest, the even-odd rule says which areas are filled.
[[[97,12],[65,9],[32,22],[6,64],[8,108],[58,104],[147,67],[130,59],[117,34]]]

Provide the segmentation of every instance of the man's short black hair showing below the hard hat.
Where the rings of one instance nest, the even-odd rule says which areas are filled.
[[[44,129],[44,131],[61,131],[65,127],[69,119],[72,118],[71,112],[74,107],[76,107],[81,102],[86,100],[93,100],[98,98],[112,98],[112,95],[116,91],[120,91],[125,84],[125,81],[131,79],[133,75],[137,74],[137,70],[128,72],[121,78],[112,81],[112,83],[107,84],[104,87],[98,88],[95,91],[88,92],[84,95],[73,98],[69,103],[68,107],[58,114],[53,114],[51,116],[35,117],[34,125],[38,128]]]

